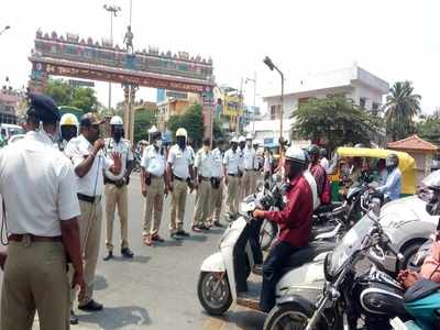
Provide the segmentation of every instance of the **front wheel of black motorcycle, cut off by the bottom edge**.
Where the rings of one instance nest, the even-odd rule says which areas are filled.
[[[311,317],[308,314],[297,304],[277,305],[267,315],[263,330],[304,330]]]

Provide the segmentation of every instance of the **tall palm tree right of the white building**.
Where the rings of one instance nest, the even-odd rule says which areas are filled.
[[[386,97],[387,135],[393,141],[404,139],[415,130],[414,118],[420,113],[421,97],[413,92],[410,81],[397,81]]]

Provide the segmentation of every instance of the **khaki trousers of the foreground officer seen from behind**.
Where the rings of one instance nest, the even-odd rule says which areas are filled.
[[[1,294],[1,329],[69,329],[69,285],[61,242],[10,242]]]

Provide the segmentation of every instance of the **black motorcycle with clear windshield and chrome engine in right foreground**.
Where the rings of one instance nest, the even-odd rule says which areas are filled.
[[[341,243],[326,255],[323,294],[318,302],[293,295],[277,304],[265,320],[264,330],[275,329],[387,329],[389,319],[407,316],[404,289],[391,276],[384,262],[387,253],[403,255],[391,244],[373,212],[362,218]]]

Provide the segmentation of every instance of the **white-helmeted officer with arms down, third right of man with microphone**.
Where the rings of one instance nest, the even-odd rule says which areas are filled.
[[[167,161],[168,190],[172,191],[170,237],[175,240],[189,234],[184,230],[185,204],[188,187],[194,189],[193,155],[187,147],[185,129],[176,131],[177,143],[169,148]]]

